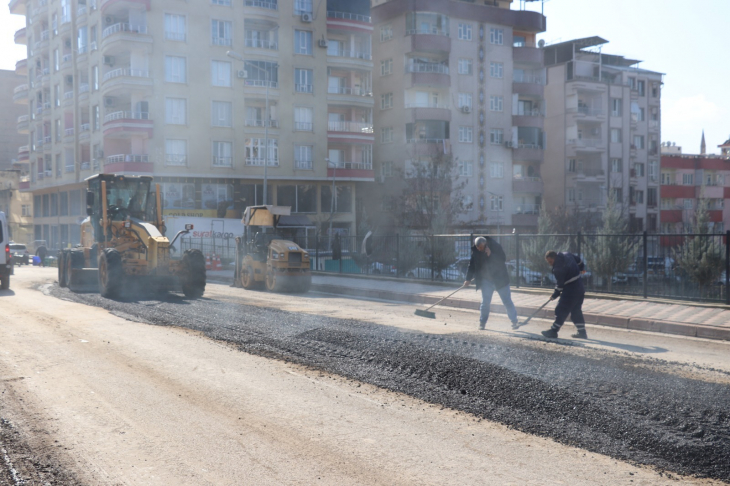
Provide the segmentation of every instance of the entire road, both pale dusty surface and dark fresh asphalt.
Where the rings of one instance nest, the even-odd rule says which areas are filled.
[[[0,484],[730,480],[726,343],[210,283],[111,301],[53,272],[0,293]]]

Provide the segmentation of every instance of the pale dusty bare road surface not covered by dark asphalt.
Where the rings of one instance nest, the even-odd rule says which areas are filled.
[[[155,312],[170,313],[159,303],[132,302],[110,313],[59,299],[46,285],[53,271],[18,269],[12,291],[0,293],[0,480],[7,484],[715,484],[270,359],[268,349],[249,354],[230,339],[135,322],[127,312],[146,306],[154,321]],[[248,299],[266,308],[273,298],[217,285],[209,285],[206,297],[213,299],[205,307],[209,317],[216,302]],[[297,299],[286,297],[282,307],[295,310]],[[380,324],[372,313],[382,304],[308,301],[317,315],[358,310]],[[180,315],[201,319],[189,301],[174,305]],[[390,307],[388,315],[402,316],[402,326],[423,326],[406,317],[412,308]],[[221,312],[222,328],[226,319]],[[454,317],[450,332],[467,329],[470,319]],[[448,327],[427,325],[434,327],[429,336],[438,335],[437,325],[440,333]],[[495,333],[495,339],[502,338]],[[686,361],[677,374],[727,386],[727,363],[718,372],[692,365],[683,346],[674,351]],[[711,346],[722,354],[720,344]]]

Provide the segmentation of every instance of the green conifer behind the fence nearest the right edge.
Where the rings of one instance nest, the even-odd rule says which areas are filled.
[[[699,286],[700,296],[722,274],[724,245],[722,238],[710,234],[707,199],[700,199],[693,217],[692,233],[674,249],[674,259],[682,274]]]

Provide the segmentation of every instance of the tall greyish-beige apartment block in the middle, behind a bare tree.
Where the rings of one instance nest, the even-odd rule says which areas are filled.
[[[374,2],[376,171],[370,200],[414,160],[453,157],[460,223],[534,229],[543,193],[545,17],[511,0]],[[378,208],[380,209],[380,208]],[[458,221],[454,222],[458,225]]]

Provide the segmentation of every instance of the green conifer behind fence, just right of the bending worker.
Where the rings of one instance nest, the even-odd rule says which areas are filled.
[[[613,194],[608,198],[602,219],[598,235],[586,238],[586,264],[606,281],[610,292],[613,276],[634,263],[640,239],[627,234],[628,221]]]

